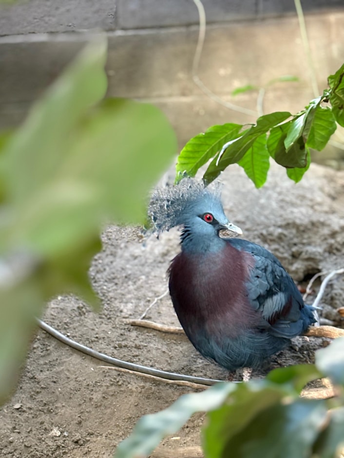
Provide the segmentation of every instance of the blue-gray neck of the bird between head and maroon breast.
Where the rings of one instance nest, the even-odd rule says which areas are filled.
[[[185,253],[216,253],[222,250],[226,242],[217,234],[198,234],[185,226],[180,236],[182,251]]]

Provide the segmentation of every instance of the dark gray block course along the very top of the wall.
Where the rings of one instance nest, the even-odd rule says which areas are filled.
[[[303,0],[305,13],[343,0]],[[295,14],[293,0],[203,0],[208,23]],[[171,27],[198,23],[192,0],[17,0],[0,3],[0,36]]]

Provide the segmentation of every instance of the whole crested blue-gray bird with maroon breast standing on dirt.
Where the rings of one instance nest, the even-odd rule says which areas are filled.
[[[220,237],[241,230],[228,221],[218,193],[183,180],[153,194],[150,216],[157,231],[183,227],[170,294],[185,333],[206,358],[229,370],[258,367],[316,321],[275,256]]]

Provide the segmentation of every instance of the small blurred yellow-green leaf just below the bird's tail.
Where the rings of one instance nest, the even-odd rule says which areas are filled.
[[[308,382],[322,377],[313,364],[298,364],[271,370],[266,379],[275,384],[290,384],[299,393]]]

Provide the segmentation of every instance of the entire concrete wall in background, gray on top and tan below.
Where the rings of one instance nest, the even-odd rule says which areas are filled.
[[[168,1],[171,5],[172,1]],[[333,1],[332,6],[342,2]],[[306,0],[303,3],[313,7],[323,4]],[[191,0],[175,0],[173,14],[167,14],[167,0],[117,0],[116,4],[102,0],[96,7],[95,4],[87,0],[31,0],[17,3],[12,9],[1,7],[1,12],[5,11],[8,16],[5,20],[1,14],[0,29],[5,22],[11,34],[0,37],[0,128],[18,125],[24,119],[32,102],[93,33],[89,30],[72,33],[72,30],[94,27],[110,30],[108,94],[146,100],[159,106],[176,129],[180,147],[211,125],[255,121],[256,116],[229,110],[194,84],[191,68],[198,27],[172,26],[177,21],[184,24],[197,21]],[[272,78],[291,74],[297,76],[299,82],[278,83],[268,88],[264,111],[296,113],[314,97],[298,19],[294,14],[277,17],[291,11],[293,0],[204,0],[204,4],[210,22],[198,75],[210,91],[225,103],[255,110],[256,92],[236,97],[231,92],[247,84],[264,87]],[[39,6],[35,15],[30,9],[33,5]],[[79,14],[80,8],[82,14]],[[9,27],[13,11],[20,14],[13,19],[16,27]],[[274,17],[267,17],[268,12]],[[240,15],[257,18],[263,13],[264,19],[238,20]],[[34,18],[36,22],[32,22]],[[67,27],[72,18],[74,22],[69,23],[74,26]],[[21,32],[20,20],[26,24]],[[327,75],[344,62],[343,24],[344,6],[306,15],[321,91],[326,87]],[[29,33],[32,30],[41,33]],[[54,33],[46,33],[48,31]],[[337,140],[343,143],[343,138]]]

